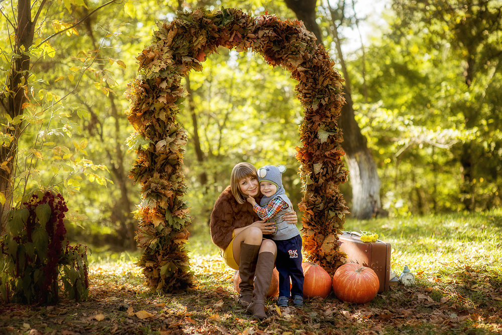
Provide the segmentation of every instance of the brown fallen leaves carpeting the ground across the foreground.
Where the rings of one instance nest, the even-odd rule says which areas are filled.
[[[344,303],[333,293],[326,299],[307,300],[303,309],[278,307],[276,300],[269,299],[269,317],[259,322],[238,307],[231,271],[214,270],[220,268],[219,262],[209,258],[194,262],[198,288],[177,295],[159,295],[132,284],[141,282],[141,276],[134,274],[131,265],[121,267],[122,272],[109,267],[114,276],[99,266],[90,270],[87,301],[62,298],[53,306],[0,305],[0,334],[502,332],[501,278],[482,267],[464,266],[448,275],[417,273],[416,285],[392,286],[365,305]],[[210,274],[209,265],[214,271]],[[124,280],[128,276],[134,278]]]

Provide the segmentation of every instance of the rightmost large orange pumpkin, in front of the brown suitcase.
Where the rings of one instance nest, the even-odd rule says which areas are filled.
[[[346,302],[366,303],[371,301],[380,288],[376,273],[369,267],[346,263],[333,275],[333,292]]]

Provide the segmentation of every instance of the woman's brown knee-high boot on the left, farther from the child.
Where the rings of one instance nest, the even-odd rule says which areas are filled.
[[[259,245],[246,244],[240,242],[239,275],[240,275],[240,296],[239,304],[247,307],[253,297],[253,280],[255,278],[256,262]]]

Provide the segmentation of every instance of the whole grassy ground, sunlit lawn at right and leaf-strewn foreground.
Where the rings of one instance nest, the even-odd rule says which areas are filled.
[[[208,233],[187,245],[196,288],[158,294],[143,285],[139,253],[94,252],[90,297],[55,306],[0,305],[0,334],[499,334],[502,333],[502,210],[406,219],[347,220],[392,245],[392,270],[408,265],[413,286],[391,286],[365,305],[331,292],[303,309],[268,300],[269,318],[236,306],[233,270]]]

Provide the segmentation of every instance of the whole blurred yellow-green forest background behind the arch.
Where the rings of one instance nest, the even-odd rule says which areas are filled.
[[[30,190],[57,188],[76,224],[68,225],[70,239],[133,248],[140,191],[128,178],[136,154],[127,146],[133,129],[123,93],[137,76],[136,57],[157,22],[179,10],[222,6],[302,19],[318,29],[318,41],[346,79],[343,112],[353,122],[340,120],[349,170],[341,188],[352,215],[501,205],[500,0],[3,0],[3,212]],[[191,233],[209,235],[212,206],[239,161],[286,164],[286,191],[300,202],[295,147],[303,109],[290,74],[259,55],[221,48],[184,85],[189,94],[179,120],[189,134],[184,174]],[[369,177],[354,165],[360,152],[374,166]],[[374,208],[368,213],[353,204],[369,184],[374,188],[363,193],[374,193]]]

